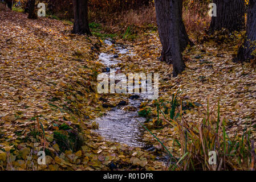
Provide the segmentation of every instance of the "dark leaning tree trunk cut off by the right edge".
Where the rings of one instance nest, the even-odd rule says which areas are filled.
[[[255,59],[256,52],[254,51],[256,51],[256,0],[250,0],[247,12],[246,39],[243,46],[239,48],[234,61],[243,62]]]

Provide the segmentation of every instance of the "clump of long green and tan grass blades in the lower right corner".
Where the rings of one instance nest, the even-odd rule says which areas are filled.
[[[198,118],[198,121],[188,121],[182,117],[182,104],[178,105],[177,94],[170,103],[166,107],[156,102],[156,124],[165,121],[174,129],[173,143],[180,148],[180,152],[170,154],[160,139],[146,128],[168,151],[172,160],[170,170],[255,170],[255,148],[254,141],[250,140],[249,123],[243,128],[242,135],[235,133],[231,136],[227,133],[225,117],[221,117],[220,102],[211,109],[208,102],[203,113],[205,116]],[[202,114],[199,112],[198,115]],[[160,119],[160,115],[163,118]],[[212,152],[217,154],[216,164],[209,163]]]

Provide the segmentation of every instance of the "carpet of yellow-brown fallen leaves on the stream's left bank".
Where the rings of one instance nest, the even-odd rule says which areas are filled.
[[[96,93],[102,40],[70,34],[72,27],[58,20],[29,20],[11,11],[0,16],[2,170],[162,167],[140,148],[91,132],[90,121],[107,110]],[[47,165],[38,167],[43,148]]]

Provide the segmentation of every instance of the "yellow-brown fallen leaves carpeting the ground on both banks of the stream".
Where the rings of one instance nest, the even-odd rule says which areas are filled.
[[[129,97],[96,93],[97,74],[105,68],[97,58],[111,51],[103,40],[71,34],[72,26],[60,20],[29,20],[13,11],[0,11],[0,19],[0,169],[166,169],[156,160],[165,151],[152,134],[145,131],[144,140],[156,151],[109,142],[92,131],[97,128],[94,119],[111,109],[103,107],[104,100],[116,106]],[[120,70],[159,73],[159,100],[171,101],[179,92],[179,100],[189,107],[183,117],[191,122],[201,121],[208,102],[214,112],[220,101],[229,136],[242,135],[247,126],[255,139],[256,70],[250,63],[231,61],[237,46],[225,42],[225,36],[206,39],[186,49],[186,69],[176,78],[172,65],[157,60],[161,44],[156,31],[133,42],[117,39],[133,50],[121,57]],[[151,109],[147,126],[180,157],[174,128],[164,119],[154,127],[154,104],[140,106],[141,111]],[[37,165],[36,153],[43,148],[47,165]]]

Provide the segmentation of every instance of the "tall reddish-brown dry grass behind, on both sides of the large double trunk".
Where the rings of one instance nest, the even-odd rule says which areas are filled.
[[[138,10],[128,10],[115,14],[89,11],[90,22],[103,23],[105,27],[121,27],[124,30],[128,26],[145,27],[148,24],[157,26],[155,5],[141,7]],[[196,39],[202,32],[208,30],[210,16],[208,15],[208,3],[196,1],[185,3],[183,9],[183,20],[192,39]],[[116,30],[120,31],[120,30]]]

